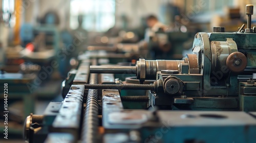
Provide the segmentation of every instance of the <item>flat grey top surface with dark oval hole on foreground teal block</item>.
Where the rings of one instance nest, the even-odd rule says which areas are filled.
[[[256,127],[256,120],[253,117],[238,111],[159,111],[158,115],[162,122],[176,127],[247,125]]]

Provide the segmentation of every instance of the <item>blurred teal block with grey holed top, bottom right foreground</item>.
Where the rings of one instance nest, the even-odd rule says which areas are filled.
[[[143,142],[253,143],[256,139],[256,119],[245,112],[158,111],[157,115],[160,125],[140,129]]]

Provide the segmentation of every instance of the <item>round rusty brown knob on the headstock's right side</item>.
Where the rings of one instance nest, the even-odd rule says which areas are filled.
[[[247,59],[241,52],[233,52],[227,57],[226,65],[234,73],[244,71],[247,65]]]

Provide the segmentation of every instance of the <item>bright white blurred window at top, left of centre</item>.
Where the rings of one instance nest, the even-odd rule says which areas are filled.
[[[104,32],[115,25],[115,0],[72,0],[70,2],[70,27],[78,27],[78,15],[82,28],[87,31]]]

